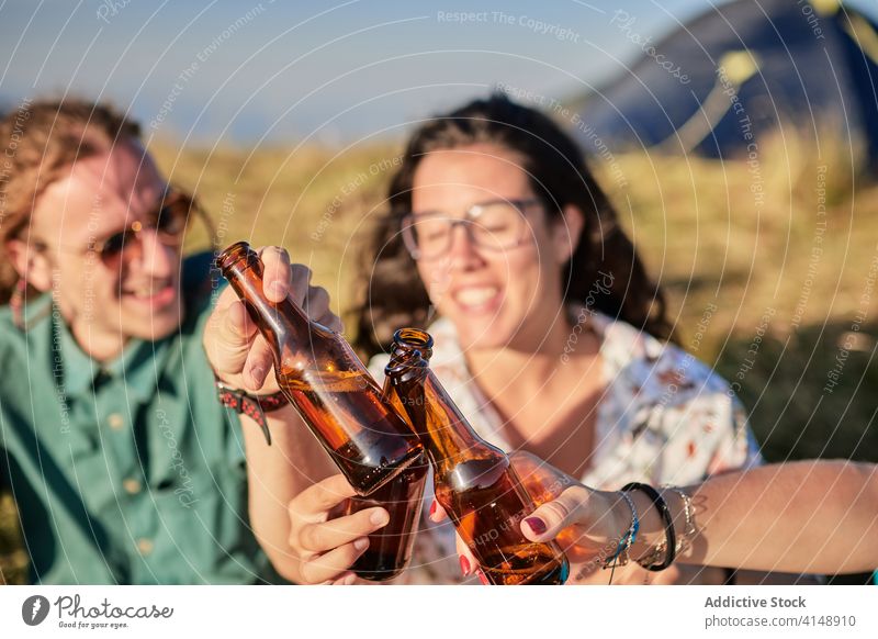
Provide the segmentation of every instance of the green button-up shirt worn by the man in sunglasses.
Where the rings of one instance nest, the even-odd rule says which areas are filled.
[[[248,522],[240,423],[201,345],[207,265],[184,262],[179,332],[110,363],[79,348],[48,296],[26,332],[0,311],[0,483],[33,582],[277,581]]]

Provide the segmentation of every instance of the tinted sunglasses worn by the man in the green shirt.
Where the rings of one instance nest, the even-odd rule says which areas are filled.
[[[59,246],[58,250],[79,255],[97,255],[109,269],[117,269],[143,255],[140,233],[155,231],[157,239],[165,246],[179,247],[183,243],[190,211],[195,206],[193,199],[180,191],[170,190],[161,199],[161,204],[146,215],[145,220],[135,220],[126,228],[113,233],[103,239],[89,244],[85,249]],[[37,250],[47,250],[49,246],[41,240],[34,242]]]

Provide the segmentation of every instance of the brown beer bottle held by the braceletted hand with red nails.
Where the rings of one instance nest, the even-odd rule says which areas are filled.
[[[385,372],[432,464],[436,500],[489,583],[564,583],[566,557],[521,532],[536,506],[506,453],[475,434],[429,369],[430,341],[424,330],[397,330]]]

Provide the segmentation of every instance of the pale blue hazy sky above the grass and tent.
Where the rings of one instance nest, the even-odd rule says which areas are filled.
[[[193,142],[398,136],[499,83],[587,91],[638,58],[631,33],[658,40],[711,2],[0,0],[0,102],[106,98]]]

